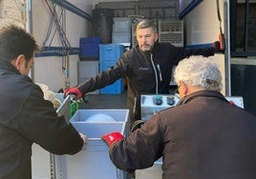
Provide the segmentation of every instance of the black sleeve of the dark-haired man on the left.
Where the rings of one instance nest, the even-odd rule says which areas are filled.
[[[76,129],[57,116],[53,104],[38,89],[32,90],[17,118],[17,129],[24,136],[54,154],[74,154],[83,147]]]

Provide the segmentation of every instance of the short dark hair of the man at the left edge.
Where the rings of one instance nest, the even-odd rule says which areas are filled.
[[[24,54],[28,63],[36,50],[39,50],[39,46],[26,30],[13,25],[0,30],[1,61],[11,61]]]

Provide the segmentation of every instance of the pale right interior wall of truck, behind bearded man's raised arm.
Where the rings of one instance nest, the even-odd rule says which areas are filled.
[[[220,0],[220,11],[224,19],[224,0]],[[183,18],[186,46],[213,43],[219,40],[219,21],[217,16],[217,6],[214,0],[203,0],[195,9],[191,10]],[[224,30],[224,25],[222,25]],[[222,93],[225,95],[225,62],[224,54],[215,54],[211,57],[215,60],[223,75],[224,88]]]

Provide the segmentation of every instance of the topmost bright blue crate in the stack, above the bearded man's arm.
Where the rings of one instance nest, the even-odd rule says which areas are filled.
[[[101,44],[99,45],[100,62],[116,62],[124,52],[123,45],[119,44]]]

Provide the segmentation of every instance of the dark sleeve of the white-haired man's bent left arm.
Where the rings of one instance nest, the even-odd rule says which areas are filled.
[[[158,114],[154,115],[129,137],[111,146],[110,158],[118,169],[146,169],[161,157],[163,145],[158,118]]]

